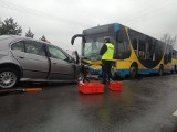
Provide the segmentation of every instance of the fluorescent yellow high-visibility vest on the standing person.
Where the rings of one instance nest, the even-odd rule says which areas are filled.
[[[112,43],[106,43],[107,51],[102,55],[102,59],[112,61],[114,55],[114,45]]]

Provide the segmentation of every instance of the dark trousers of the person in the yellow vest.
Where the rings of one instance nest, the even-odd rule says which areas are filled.
[[[107,84],[110,78],[112,78],[112,61],[102,61],[102,76],[103,76],[103,84]]]

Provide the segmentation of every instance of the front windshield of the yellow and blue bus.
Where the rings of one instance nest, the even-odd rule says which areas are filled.
[[[83,44],[83,55],[90,61],[101,59],[100,50],[104,44],[104,37],[86,37],[86,43]]]

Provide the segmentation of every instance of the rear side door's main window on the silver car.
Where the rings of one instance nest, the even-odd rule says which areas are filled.
[[[27,41],[24,44],[25,44],[27,53],[45,56],[45,52],[44,52],[42,43]]]

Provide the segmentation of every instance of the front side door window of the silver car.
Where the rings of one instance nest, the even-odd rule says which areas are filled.
[[[58,47],[48,45],[51,57],[67,61],[67,56]]]

